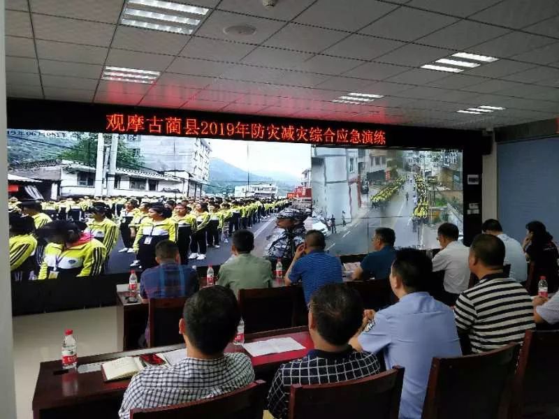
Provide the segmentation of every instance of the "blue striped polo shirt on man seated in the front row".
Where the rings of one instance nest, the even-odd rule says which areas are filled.
[[[293,264],[289,280],[296,284],[301,281],[305,302],[310,302],[314,291],[326,284],[342,282],[342,264],[334,256],[324,251],[313,250]]]

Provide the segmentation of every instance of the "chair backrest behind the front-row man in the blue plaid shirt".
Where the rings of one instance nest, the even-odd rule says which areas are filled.
[[[178,332],[182,309],[187,297],[150,298],[149,328],[150,339],[147,346],[180,344],[183,338]]]

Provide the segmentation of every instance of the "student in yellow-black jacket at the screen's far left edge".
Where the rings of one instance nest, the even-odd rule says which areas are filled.
[[[35,227],[29,216],[10,214],[10,272],[12,281],[28,281],[35,276]]]

